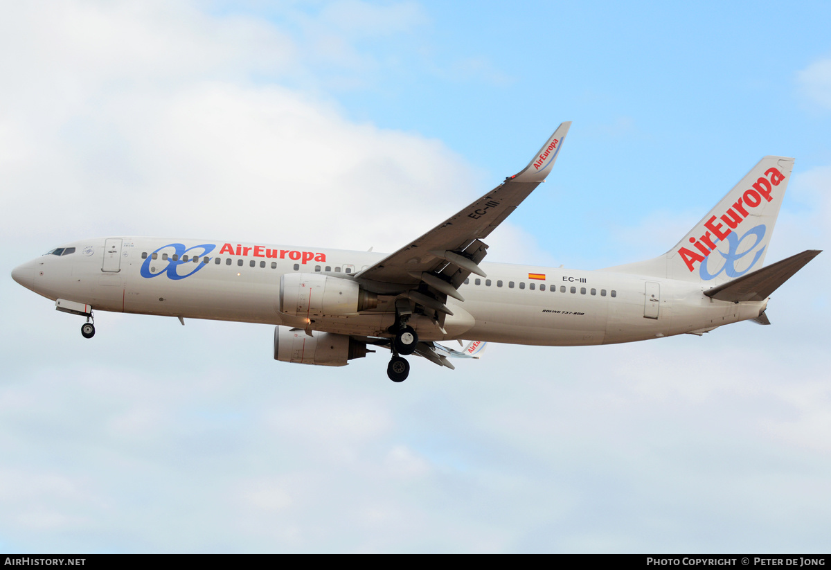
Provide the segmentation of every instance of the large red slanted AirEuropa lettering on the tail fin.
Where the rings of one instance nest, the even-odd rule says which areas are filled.
[[[768,180],[770,179],[770,181]],[[772,198],[770,193],[774,186],[779,186],[779,183],[784,180],[784,174],[775,168],[765,170],[765,176],[756,180],[755,184],[749,189],[745,190],[740,199],[727,209],[727,211],[720,216],[721,221],[717,221],[715,216],[711,216],[704,223],[704,227],[709,229],[701,238],[690,238],[690,243],[701,252],[696,253],[688,248],[681,248],[678,253],[686,263],[686,268],[692,271],[695,269],[695,263],[701,263],[704,259],[715,251],[715,242],[724,240],[730,233],[733,233],[735,228],[750,215],[748,210],[753,209],[762,204],[762,199],[770,202]],[[772,184],[772,185],[771,185]],[[721,224],[724,222],[724,224]],[[726,225],[725,225],[726,224]],[[715,239],[714,239],[715,238]]]

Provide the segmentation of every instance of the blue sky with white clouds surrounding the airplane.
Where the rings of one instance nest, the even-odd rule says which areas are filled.
[[[7,272],[84,236],[391,251],[514,174],[489,261],[670,248],[796,157],[767,261],[831,228],[831,7],[759,2],[37,2],[0,18]],[[273,361],[272,328],[0,283],[0,548],[826,552],[825,253],[771,327],[492,345],[456,371]]]

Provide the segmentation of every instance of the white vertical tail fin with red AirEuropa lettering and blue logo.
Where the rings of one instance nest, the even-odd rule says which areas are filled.
[[[762,267],[793,168],[794,159],[765,156],[674,248],[604,271],[715,285]]]

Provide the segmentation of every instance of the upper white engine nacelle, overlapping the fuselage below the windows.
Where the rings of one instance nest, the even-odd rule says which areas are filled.
[[[378,295],[356,281],[320,273],[286,273],[280,278],[278,310],[297,317],[356,315],[378,306]]]

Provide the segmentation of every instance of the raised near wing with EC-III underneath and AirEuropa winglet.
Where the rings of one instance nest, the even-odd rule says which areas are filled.
[[[563,147],[571,121],[554,131],[528,166],[429,232],[391,253],[355,278],[367,290],[400,295],[431,311],[453,314],[447,297],[464,298],[457,291],[470,273],[484,277],[478,263],[488,246],[481,240],[551,172]]]

